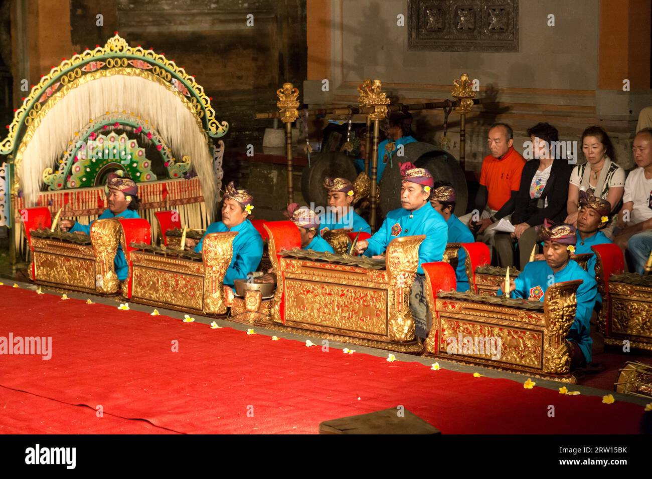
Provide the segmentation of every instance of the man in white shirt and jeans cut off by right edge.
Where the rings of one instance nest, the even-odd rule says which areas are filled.
[[[638,168],[625,181],[624,204],[618,215],[621,231],[614,242],[623,251],[627,249],[632,266],[643,274],[652,250],[652,128],[636,134],[632,152]]]

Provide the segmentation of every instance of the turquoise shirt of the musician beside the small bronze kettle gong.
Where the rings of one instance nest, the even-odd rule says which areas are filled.
[[[260,260],[263,257],[263,239],[260,233],[249,220],[244,220],[241,224],[232,228],[226,227],[221,221],[211,224],[207,229],[204,237],[209,233],[224,233],[225,231],[237,231],[233,238],[233,256],[231,264],[224,275],[224,284],[233,287],[233,281],[246,279],[246,275],[256,271]],[[201,253],[203,238],[197,246],[195,252]]]

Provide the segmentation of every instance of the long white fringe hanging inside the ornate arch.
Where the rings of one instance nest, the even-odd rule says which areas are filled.
[[[48,111],[23,153],[19,174],[26,205],[36,204],[43,184],[43,170],[55,165],[68,148],[68,141],[76,141],[75,132],[96,117],[123,110],[149,121],[168,143],[175,158],[190,156],[201,181],[207,213],[213,218],[218,195],[213,157],[194,113],[162,85],[125,75],[84,83]]]

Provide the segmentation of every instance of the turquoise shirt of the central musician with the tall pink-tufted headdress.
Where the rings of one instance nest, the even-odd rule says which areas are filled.
[[[383,254],[395,238],[417,235],[426,235],[426,239],[419,246],[417,269],[417,273],[423,274],[422,263],[441,261],[448,240],[446,222],[430,203],[413,211],[403,208],[390,211],[380,229],[368,239],[369,246],[364,251],[364,256]]]

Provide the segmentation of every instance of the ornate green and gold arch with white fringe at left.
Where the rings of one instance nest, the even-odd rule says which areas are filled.
[[[103,168],[116,166],[83,150],[100,139],[112,144],[111,135],[113,146],[125,142],[131,160],[138,159],[117,167],[140,182],[139,194],[153,198],[152,208],[181,201],[181,209],[201,217],[199,224],[188,220],[190,227],[205,227],[213,218],[222,179],[215,161],[222,150],[213,138],[224,136],[228,124],[216,119],[211,98],[194,76],[162,54],[129,46],[117,32],[104,46],[54,66],[23,98],[7,128],[0,141],[0,154],[7,156],[0,158],[7,214],[0,225],[11,227],[18,207],[47,205],[56,212],[63,201],[59,192],[90,197],[76,208],[88,213],[82,221],[96,217],[103,197],[93,185]]]

